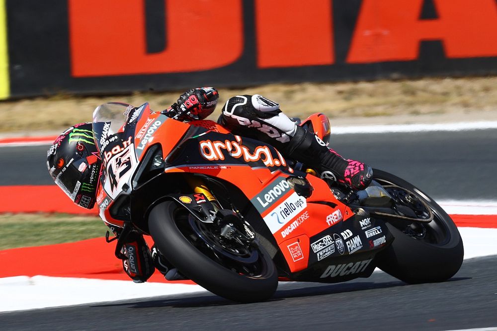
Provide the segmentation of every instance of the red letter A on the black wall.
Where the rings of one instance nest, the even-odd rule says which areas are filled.
[[[419,20],[423,0],[363,0],[347,62],[415,60],[422,40],[448,58],[497,56],[496,0],[433,1],[439,18]]]

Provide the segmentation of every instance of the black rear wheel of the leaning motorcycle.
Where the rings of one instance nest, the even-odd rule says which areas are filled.
[[[387,223],[395,240],[378,255],[378,267],[407,283],[439,282],[452,277],[461,267],[464,249],[450,216],[405,180],[381,170],[373,173],[375,181],[390,187],[386,190],[396,204],[409,206],[418,215],[426,215],[429,210],[433,213],[429,223]]]

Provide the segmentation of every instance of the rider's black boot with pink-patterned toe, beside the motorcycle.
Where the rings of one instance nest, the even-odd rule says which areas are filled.
[[[317,135],[303,127],[297,127],[286,148],[287,155],[305,160],[306,164],[321,173],[322,178],[334,179],[356,190],[364,190],[373,179],[370,166],[342,158]]]

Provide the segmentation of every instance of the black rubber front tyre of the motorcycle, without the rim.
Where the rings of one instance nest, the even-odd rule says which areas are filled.
[[[189,231],[187,215],[173,201],[159,203],[149,215],[150,234],[156,246],[181,273],[212,293],[237,302],[264,301],[274,294],[278,275],[262,246],[254,248],[258,254],[253,265],[256,274],[234,271],[216,261],[216,254],[201,241],[192,241],[195,236]]]

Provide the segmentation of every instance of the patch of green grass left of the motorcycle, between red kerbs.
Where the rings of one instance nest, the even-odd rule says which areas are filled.
[[[107,229],[98,216],[0,214],[0,250],[103,237]]]

